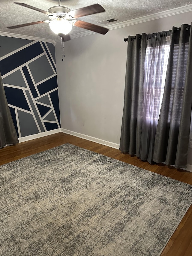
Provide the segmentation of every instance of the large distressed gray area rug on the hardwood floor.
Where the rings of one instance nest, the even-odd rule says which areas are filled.
[[[0,184],[6,256],[160,255],[192,202],[191,185],[68,143],[0,166]]]

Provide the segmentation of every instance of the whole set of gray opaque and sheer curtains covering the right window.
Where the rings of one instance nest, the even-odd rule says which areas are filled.
[[[190,131],[192,38],[187,27],[128,37],[120,139],[122,152],[177,168],[187,167]]]

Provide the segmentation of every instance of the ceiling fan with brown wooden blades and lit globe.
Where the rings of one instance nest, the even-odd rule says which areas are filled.
[[[83,28],[83,29],[88,29],[103,35],[105,35],[108,32],[109,29],[107,28],[104,28],[95,24],[91,24],[82,20],[76,20],[76,18],[79,18],[79,17],[104,12],[105,10],[101,5],[99,4],[89,5],[89,6],[71,11],[68,7],[61,6],[60,1],[61,0],[58,0],[58,6],[53,6],[49,8],[48,11],[44,11],[24,3],[15,2],[15,4],[17,5],[22,5],[32,10],[39,11],[43,14],[46,14],[50,20],[35,21],[35,22],[25,23],[25,24],[11,26],[7,28],[16,29],[16,28],[21,28],[25,26],[40,24],[40,23],[49,23],[49,27],[52,30],[52,32],[59,35],[63,39],[63,41],[70,40],[70,36],[67,34],[71,31],[73,26]]]

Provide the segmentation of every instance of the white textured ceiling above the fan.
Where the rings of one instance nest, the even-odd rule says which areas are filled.
[[[40,38],[56,39],[58,38],[49,29],[48,24],[37,24],[18,29],[7,29],[8,26],[29,23],[39,20],[47,20],[48,17],[40,12],[30,10],[28,8],[14,4],[15,0],[0,0],[0,31],[9,32],[20,35],[28,35]],[[47,11],[50,7],[58,5],[58,0],[17,0],[17,2],[26,3],[37,8]],[[106,12],[93,14],[79,18],[86,22],[98,24],[103,20],[115,18],[121,21],[131,20],[137,17],[142,17],[148,14],[154,14],[160,11],[165,11],[177,8],[184,5],[192,4],[192,0],[62,0],[61,5],[75,10],[92,4],[100,4]],[[117,22],[116,22],[117,23]],[[104,26],[98,24],[100,26]],[[105,25],[106,26],[106,25]],[[73,27],[70,35],[85,32],[85,29]]]

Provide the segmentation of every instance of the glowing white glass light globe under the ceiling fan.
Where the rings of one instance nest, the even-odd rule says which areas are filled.
[[[70,33],[72,29],[72,24],[64,19],[61,20],[52,20],[49,22],[49,27],[52,30],[53,33],[55,34],[64,34],[67,35]]]

